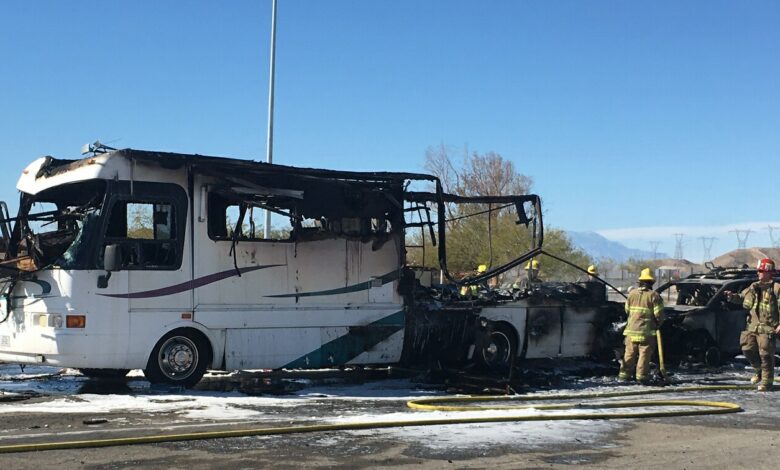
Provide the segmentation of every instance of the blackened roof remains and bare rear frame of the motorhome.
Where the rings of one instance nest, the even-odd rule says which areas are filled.
[[[438,260],[444,276],[456,285],[481,283],[489,278],[498,276],[506,271],[522,264],[523,262],[537,256],[542,251],[543,242],[543,224],[541,218],[541,202],[537,195],[519,195],[519,196],[479,196],[466,197],[454,194],[448,194],[443,191],[441,181],[433,175],[423,173],[403,173],[403,172],[354,172],[325,170],[313,168],[297,168],[286,165],[268,164],[251,160],[237,160],[221,157],[209,157],[201,155],[186,155],[167,152],[150,152],[141,150],[118,150],[115,153],[122,154],[133,162],[144,162],[160,165],[166,169],[177,169],[187,167],[191,174],[204,174],[216,177],[226,184],[226,186],[245,185],[253,188],[256,193],[265,191],[266,203],[262,206],[273,207],[272,201],[289,198],[289,194],[279,192],[279,187],[292,190],[304,190],[307,187],[319,187],[325,192],[331,192],[341,196],[342,204],[333,205],[333,201],[314,201],[310,204],[320,203],[319,206],[312,208],[312,211],[330,211],[332,213],[366,215],[372,211],[381,210],[384,205],[393,206],[401,214],[400,228],[405,229],[408,226],[403,218],[403,202],[416,202],[423,205],[433,204],[437,213],[436,222],[422,223],[421,225],[437,225],[438,235]],[[46,176],[52,177],[58,174],[67,173],[89,164],[92,157],[81,160],[62,160],[53,157],[46,157],[46,161],[41,166],[36,178]],[[240,176],[237,176],[240,175]],[[279,184],[279,181],[283,181]],[[435,192],[415,192],[408,191],[409,184],[413,181],[429,182],[435,186]],[[132,182],[131,182],[132,192]],[[350,194],[359,195],[359,201],[351,201]],[[34,198],[32,198],[34,199]],[[31,198],[26,202],[30,204]],[[357,207],[351,202],[367,203]],[[463,279],[456,279],[447,268],[447,244],[446,244],[446,204],[507,204],[514,205],[519,217],[518,224],[530,227],[532,230],[532,246],[529,251],[520,254],[515,259],[493,267],[488,271],[476,276],[469,276]],[[530,203],[533,207],[532,217],[525,212],[525,204]],[[329,206],[329,207],[325,207]],[[20,204],[19,214],[26,213],[29,207],[25,209]],[[316,212],[315,211],[315,212]],[[243,213],[244,211],[242,211]],[[52,214],[55,220],[60,214]],[[285,214],[290,215],[290,214]],[[300,216],[301,214],[295,214]],[[26,220],[20,220],[19,217],[9,218],[0,213],[0,226],[7,227],[10,221],[16,221],[13,230],[4,238],[7,242],[7,253],[4,261],[9,261],[17,256],[19,241],[22,238],[23,227],[27,226],[29,216]],[[395,230],[395,227],[393,227]],[[431,227],[432,230],[432,227]],[[435,243],[435,239],[434,239]],[[404,261],[404,260],[402,260]],[[402,263],[405,264],[405,263]],[[40,267],[39,267],[40,268]],[[23,275],[20,271],[19,275]]]

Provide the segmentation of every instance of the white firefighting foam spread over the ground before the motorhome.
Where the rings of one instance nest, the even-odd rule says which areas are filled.
[[[320,422],[357,423],[376,421],[413,421],[431,419],[458,419],[473,417],[533,416],[540,413],[566,413],[567,411],[537,410],[484,410],[464,412],[441,412],[410,410],[407,400],[424,396],[440,395],[419,390],[407,380],[377,380],[363,385],[311,386],[288,396],[248,396],[236,392],[186,391],[161,393],[150,391],[143,381],[130,381],[127,393],[91,394],[78,393],[84,384],[80,375],[71,370],[62,371],[50,367],[29,367],[24,374],[17,368],[0,366],[0,390],[13,394],[19,390],[35,390],[50,395],[47,401],[6,402],[0,405],[0,413],[84,413],[99,415],[122,412],[164,414],[169,413],[172,421],[178,423],[204,422]],[[57,374],[51,378],[53,374]],[[745,384],[749,371],[742,366],[722,370],[720,380]],[[678,372],[675,379],[683,382],[702,380],[706,375]],[[574,381],[575,389],[538,393],[550,396],[561,393],[598,393],[616,390],[640,390],[639,386],[615,386],[614,378],[590,378]],[[673,391],[674,387],[667,387]],[[731,401],[741,404],[747,414],[777,417],[780,407],[775,405],[777,394],[758,394],[752,391],[723,391],[671,393],[658,399],[689,399]],[[627,397],[640,399],[647,397]],[[591,399],[588,399],[591,400]],[[606,399],[605,399],[606,400]],[[502,403],[507,404],[507,403]],[[521,403],[518,403],[521,404]],[[319,409],[337,410],[318,412]],[[387,410],[387,412],[382,412]],[[636,409],[641,410],[641,408]],[[577,409],[579,412],[602,410]],[[728,415],[727,415],[728,416]],[[712,417],[713,419],[729,419]],[[121,419],[121,418],[120,418]],[[620,429],[633,420],[570,420],[570,421],[524,421],[502,423],[468,423],[453,425],[410,426],[383,428],[365,431],[349,431],[346,434],[323,435],[315,445],[333,445],[350,435],[380,436],[399,439],[409,445],[430,449],[489,448],[512,446],[513,448],[536,448],[550,445],[584,444],[609,446],[604,435]],[[344,436],[344,437],[342,437]]]

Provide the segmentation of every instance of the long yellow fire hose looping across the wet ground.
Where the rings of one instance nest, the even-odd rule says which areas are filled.
[[[249,436],[273,436],[283,434],[301,434],[323,431],[349,431],[361,429],[379,429],[404,426],[434,426],[447,424],[465,424],[465,423],[499,423],[510,421],[552,421],[552,420],[574,420],[574,419],[626,419],[626,418],[659,418],[668,416],[694,416],[708,414],[736,413],[742,411],[742,408],[735,403],[717,402],[717,401],[696,401],[696,400],[639,400],[622,402],[600,402],[600,403],[577,403],[577,404],[551,404],[551,405],[525,405],[514,407],[475,407],[475,406],[453,406],[439,405],[438,403],[458,403],[458,402],[496,402],[496,401],[546,401],[546,400],[565,400],[580,398],[612,398],[621,396],[634,396],[656,393],[679,393],[691,391],[718,391],[718,390],[748,390],[750,386],[740,385],[711,385],[698,387],[680,387],[670,389],[651,389],[651,390],[631,390],[623,392],[606,393],[581,393],[568,395],[540,395],[540,396],[465,396],[465,397],[436,397],[407,402],[407,406],[413,409],[438,410],[438,411],[474,411],[488,409],[586,409],[586,408],[635,408],[635,407],[696,407],[699,409],[689,410],[666,410],[666,411],[634,411],[634,412],[596,412],[596,413],[561,413],[561,414],[540,414],[540,415],[511,415],[511,416],[490,416],[476,418],[437,418],[425,420],[401,420],[401,421],[367,421],[359,423],[340,423],[340,424],[313,424],[300,426],[237,429],[229,431],[205,431],[186,434],[158,434],[140,437],[122,437],[109,439],[94,439],[84,441],[63,441],[63,442],[41,442],[30,444],[17,444],[0,446],[0,453],[16,452],[34,452],[44,450],[63,450],[63,449],[84,449],[95,447],[110,447],[135,444],[157,444],[162,442],[193,441],[201,439],[223,439],[229,437],[249,437]]]

